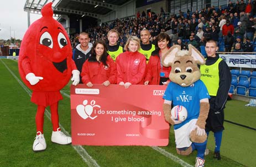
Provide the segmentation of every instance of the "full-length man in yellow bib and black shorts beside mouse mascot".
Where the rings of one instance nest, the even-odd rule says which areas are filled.
[[[228,91],[231,86],[231,73],[227,63],[217,54],[217,42],[209,40],[206,42],[207,53],[206,63],[200,67],[201,80],[206,85],[211,96],[210,111],[206,120],[206,133],[210,131],[215,137],[215,154],[213,158],[221,159],[220,148],[222,141],[222,131],[224,130],[224,108],[227,101]],[[206,149],[205,154],[208,153]]]

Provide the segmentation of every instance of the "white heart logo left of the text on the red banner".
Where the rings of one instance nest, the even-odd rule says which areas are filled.
[[[99,105],[95,105],[95,100],[92,100],[91,101],[91,105],[88,104],[88,101],[87,100],[84,100],[83,101],[83,105],[77,105],[76,106],[76,112],[79,116],[81,116],[84,120],[88,117],[90,117],[92,120],[94,120],[97,116],[95,117],[91,117],[92,115],[92,112],[93,112],[93,107],[101,107]]]

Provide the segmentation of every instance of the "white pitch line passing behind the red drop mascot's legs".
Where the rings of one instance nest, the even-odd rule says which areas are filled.
[[[21,82],[19,80],[19,78],[17,76],[15,76],[15,74],[12,72],[12,70],[6,65],[6,63],[4,63],[2,60],[1,62],[4,64],[4,66],[6,66],[6,68],[8,69],[8,71],[12,74],[12,76],[17,80],[17,82],[20,84],[20,86],[28,93],[28,95],[31,97],[32,93],[31,93],[31,90],[28,89],[23,82]],[[67,95],[67,94],[66,94]],[[66,96],[65,95],[65,96]],[[70,97],[70,96],[69,96]],[[46,117],[49,118],[49,120],[51,120],[51,114],[50,112],[45,109],[45,115]],[[64,133],[66,133],[68,136],[70,136],[69,132],[67,132],[65,130],[65,128],[59,123],[60,125],[60,128],[61,128],[61,131],[63,131]],[[83,161],[85,161],[85,163],[88,165],[88,166],[96,166],[96,167],[100,167],[100,165],[97,164],[96,160],[93,159],[87,152],[86,150],[82,147],[82,146],[73,146],[71,145],[75,150],[76,152],[80,155],[80,157],[83,159]]]

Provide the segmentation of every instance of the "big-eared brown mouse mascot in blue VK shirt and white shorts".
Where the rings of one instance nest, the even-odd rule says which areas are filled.
[[[205,132],[206,118],[209,112],[210,96],[205,84],[200,80],[198,64],[205,64],[205,58],[192,45],[189,51],[180,50],[179,45],[172,46],[163,56],[163,66],[171,66],[170,80],[165,90],[164,116],[165,120],[174,125],[177,154],[189,155],[197,150],[196,167],[205,163],[207,134]],[[171,115],[171,104],[181,105],[187,109],[185,121],[176,120]]]

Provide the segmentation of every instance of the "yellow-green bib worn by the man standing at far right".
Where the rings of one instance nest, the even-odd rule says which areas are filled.
[[[200,67],[201,71],[201,80],[206,85],[206,88],[208,90],[208,93],[211,96],[216,96],[219,82],[220,82],[220,76],[218,75],[218,64],[222,61],[222,58],[218,58],[218,60],[212,64],[211,66],[202,65]]]

